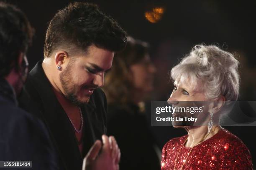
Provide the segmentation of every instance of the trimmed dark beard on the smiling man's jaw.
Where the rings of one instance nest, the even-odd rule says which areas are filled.
[[[88,96],[88,100],[86,101],[80,101],[77,97],[77,92],[79,90],[79,87],[74,84],[74,81],[71,78],[71,63],[67,65],[67,68],[63,70],[60,74],[60,81],[62,88],[64,90],[64,96],[72,102],[74,105],[80,106],[83,104],[86,104],[90,101],[90,96]]]

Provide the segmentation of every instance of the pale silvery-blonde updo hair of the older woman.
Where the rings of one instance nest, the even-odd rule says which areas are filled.
[[[192,83],[195,90],[205,92],[208,99],[223,95],[227,101],[236,101],[239,91],[238,64],[230,52],[215,45],[196,45],[172,68],[171,78]]]

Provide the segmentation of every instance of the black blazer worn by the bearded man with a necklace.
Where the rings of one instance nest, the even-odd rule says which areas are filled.
[[[90,102],[81,107],[84,118],[83,152],[80,154],[74,128],[57,100],[39,61],[28,75],[20,106],[39,117],[49,130],[52,143],[66,170],[81,170],[82,160],[95,140],[106,133],[107,102],[101,89],[94,90]]]

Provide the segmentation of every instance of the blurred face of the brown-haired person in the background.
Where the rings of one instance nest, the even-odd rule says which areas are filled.
[[[151,62],[148,55],[138,63],[130,67],[133,87],[140,92],[150,92],[154,89],[154,73],[156,67]]]

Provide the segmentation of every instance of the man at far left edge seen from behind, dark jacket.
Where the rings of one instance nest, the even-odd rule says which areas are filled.
[[[28,73],[26,51],[32,35],[26,16],[0,2],[0,161],[32,161],[26,165],[54,170],[58,162],[44,124],[16,100]]]

